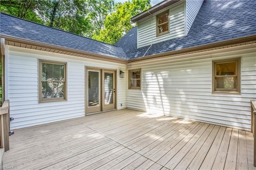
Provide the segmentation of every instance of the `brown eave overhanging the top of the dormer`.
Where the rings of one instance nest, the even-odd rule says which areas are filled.
[[[147,16],[151,15],[151,14],[154,14],[160,10],[162,10],[163,8],[167,7],[167,6],[170,6],[174,3],[177,3],[179,1],[183,1],[183,0],[166,0],[164,2],[161,2],[159,4],[156,4],[155,6],[149,8],[147,11],[143,11],[141,12],[140,14],[138,15],[135,15],[131,18],[131,21],[132,22],[137,22],[143,18],[146,18]]]

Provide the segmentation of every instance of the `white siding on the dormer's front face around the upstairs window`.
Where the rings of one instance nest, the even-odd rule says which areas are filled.
[[[138,48],[159,43],[165,40],[181,37],[185,35],[185,15],[184,4],[179,3],[171,8],[166,8],[159,13],[169,10],[170,32],[162,36],[156,36],[156,14],[151,18],[138,21]]]

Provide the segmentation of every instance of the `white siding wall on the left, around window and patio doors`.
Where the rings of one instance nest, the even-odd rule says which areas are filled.
[[[11,129],[44,124],[85,115],[85,66],[126,69],[117,64],[33,49],[6,46],[7,96]],[[67,62],[67,101],[38,103],[38,59]],[[126,107],[126,80],[117,77],[117,108]],[[121,107],[121,104],[123,105]]]

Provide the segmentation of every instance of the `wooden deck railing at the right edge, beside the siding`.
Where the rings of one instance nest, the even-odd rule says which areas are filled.
[[[255,134],[256,134],[256,101],[251,101],[251,111],[252,111],[252,118],[251,118],[251,130],[254,137],[254,151],[253,151],[253,165],[256,166],[256,140],[255,140]]]

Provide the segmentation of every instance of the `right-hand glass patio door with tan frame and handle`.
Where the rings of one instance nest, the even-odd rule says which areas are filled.
[[[103,111],[115,108],[115,71],[103,71]]]

